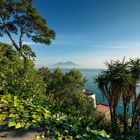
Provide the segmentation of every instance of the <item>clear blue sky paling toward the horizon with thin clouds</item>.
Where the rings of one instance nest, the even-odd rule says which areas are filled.
[[[35,0],[34,7],[56,32],[49,46],[25,40],[37,67],[73,61],[104,68],[111,59],[140,57],[140,0]]]

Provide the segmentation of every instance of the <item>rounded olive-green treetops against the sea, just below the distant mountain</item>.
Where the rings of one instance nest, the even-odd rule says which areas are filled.
[[[68,73],[63,73],[61,69],[57,68],[53,72],[47,68],[40,68],[37,72],[46,83],[46,94],[57,94],[66,88],[69,90],[84,89],[86,82],[78,70],[71,70]]]

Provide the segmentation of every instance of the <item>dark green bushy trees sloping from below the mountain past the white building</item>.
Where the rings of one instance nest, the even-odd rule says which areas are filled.
[[[96,114],[94,102],[83,93],[86,80],[80,71],[71,70],[63,73],[61,69],[56,69],[50,74],[47,68],[41,68],[38,74],[45,80],[46,95],[54,105],[54,112],[71,114],[75,118],[80,115],[84,118],[82,120],[88,123],[94,120]],[[78,113],[77,116],[74,113]]]

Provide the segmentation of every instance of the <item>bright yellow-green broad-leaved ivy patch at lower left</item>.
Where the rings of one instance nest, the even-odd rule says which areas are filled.
[[[18,128],[40,127],[44,120],[50,118],[51,113],[32,98],[26,100],[12,94],[0,96],[1,122],[7,121],[8,126]]]

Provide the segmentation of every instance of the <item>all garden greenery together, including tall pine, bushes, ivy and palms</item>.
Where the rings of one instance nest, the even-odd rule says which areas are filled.
[[[84,94],[86,79],[78,70],[35,68],[35,52],[24,37],[49,45],[55,31],[33,2],[1,0],[0,36],[7,35],[12,44],[0,43],[0,129],[35,129],[40,140],[139,139],[140,59],[112,61],[95,77],[110,107],[111,121],[106,120]],[[120,100],[123,112],[117,111]]]

